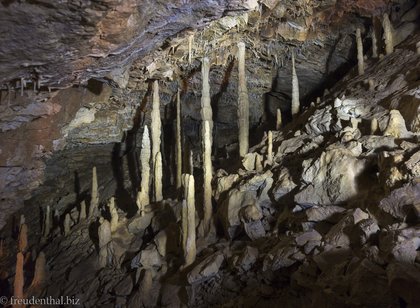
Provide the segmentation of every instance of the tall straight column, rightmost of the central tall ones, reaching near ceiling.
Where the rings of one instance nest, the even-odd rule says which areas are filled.
[[[245,44],[238,43],[238,128],[239,155],[244,157],[249,150],[249,97],[245,76]]]

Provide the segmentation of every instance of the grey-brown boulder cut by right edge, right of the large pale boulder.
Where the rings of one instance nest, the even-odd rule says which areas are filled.
[[[395,219],[416,221],[415,205],[420,203],[420,183],[407,184],[395,189],[379,203],[379,209]]]

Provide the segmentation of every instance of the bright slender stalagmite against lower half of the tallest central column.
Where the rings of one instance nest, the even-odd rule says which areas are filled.
[[[211,139],[210,139],[210,126],[208,121],[203,123],[203,172],[204,172],[204,234],[210,231],[210,223],[212,216],[212,202],[211,202],[211,180],[213,177],[212,163],[211,163]]]

